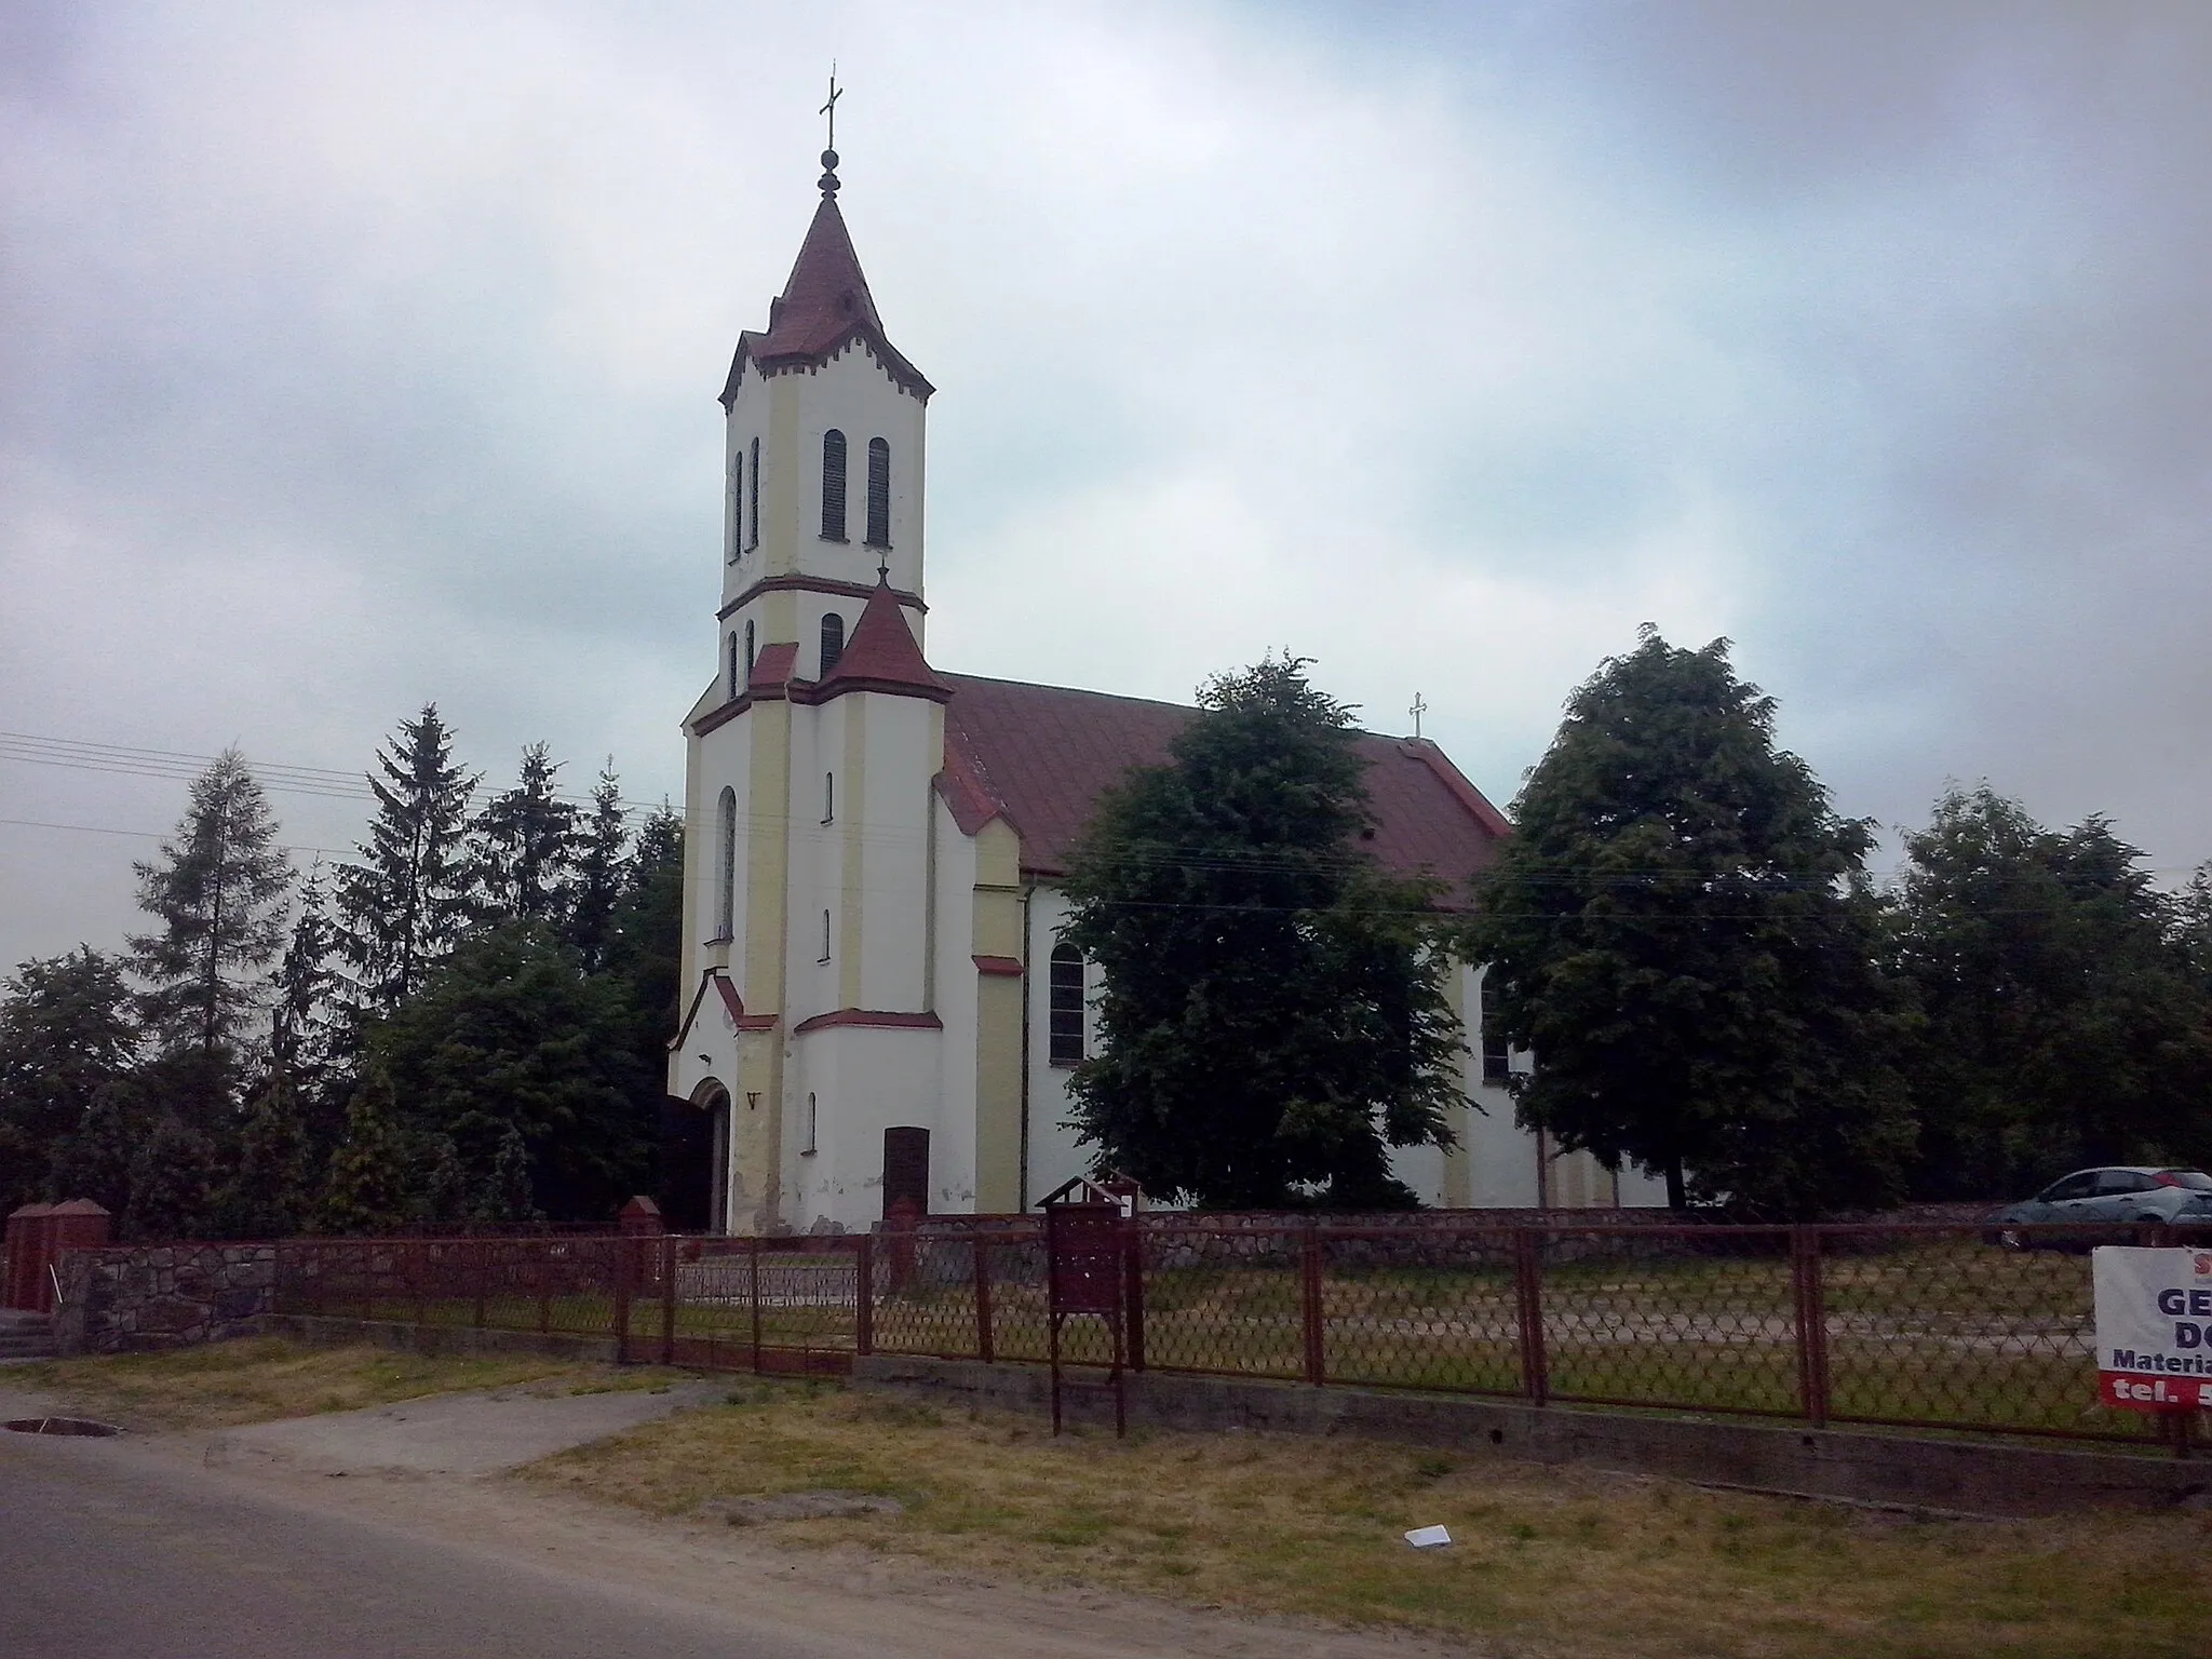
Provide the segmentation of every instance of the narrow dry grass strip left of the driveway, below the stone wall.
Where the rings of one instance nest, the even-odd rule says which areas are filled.
[[[482,1358],[400,1354],[387,1347],[307,1347],[276,1336],[53,1360],[38,1385],[135,1429],[232,1429],[241,1422],[354,1411],[458,1389],[560,1391],[657,1387],[668,1371],[577,1365],[533,1354]]]

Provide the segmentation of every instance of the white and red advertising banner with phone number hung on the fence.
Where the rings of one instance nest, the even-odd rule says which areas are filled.
[[[2097,1396],[2126,1411],[2212,1409],[2212,1250],[2101,1245]]]

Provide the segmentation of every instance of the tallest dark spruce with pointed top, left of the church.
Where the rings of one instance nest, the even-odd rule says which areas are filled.
[[[338,958],[354,1015],[389,1013],[453,949],[471,916],[469,801],[478,779],[453,763],[453,734],[425,703],[376,752],[376,818],[361,863],[338,865]]]

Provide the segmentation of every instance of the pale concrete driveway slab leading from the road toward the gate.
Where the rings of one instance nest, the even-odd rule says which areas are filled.
[[[608,1394],[438,1394],[363,1411],[223,1429],[212,1438],[208,1455],[212,1462],[259,1458],[330,1475],[491,1475],[712,1405],[728,1391],[728,1383],[675,1383]]]

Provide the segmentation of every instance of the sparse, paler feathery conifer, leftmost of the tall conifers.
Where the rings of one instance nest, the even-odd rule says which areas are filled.
[[[292,891],[276,818],[237,750],[192,781],[177,834],[135,869],[139,909],[159,922],[131,938],[146,1033],[168,1055],[195,1055],[190,1110],[210,1130],[265,993],[263,973],[283,949]]]

